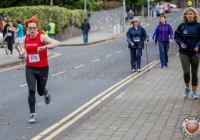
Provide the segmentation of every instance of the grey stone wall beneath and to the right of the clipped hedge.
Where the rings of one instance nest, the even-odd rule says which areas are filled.
[[[89,23],[91,26],[90,31],[97,31],[100,29],[107,29],[113,27],[113,25],[123,22],[123,7],[119,7],[111,10],[103,10],[99,12],[93,12],[89,17]],[[67,40],[69,38],[81,35],[81,29],[74,26],[68,26],[62,29],[59,34],[56,35],[56,39],[59,41]]]

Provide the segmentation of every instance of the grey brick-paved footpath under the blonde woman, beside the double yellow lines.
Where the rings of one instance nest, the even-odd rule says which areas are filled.
[[[166,69],[153,67],[66,140],[187,140],[181,123],[200,117],[200,106],[199,99],[183,99],[179,59],[171,58]]]

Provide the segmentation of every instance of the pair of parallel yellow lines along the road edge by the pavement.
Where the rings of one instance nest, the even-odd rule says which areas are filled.
[[[149,68],[152,68],[158,62],[159,61],[157,61],[157,60],[152,61],[149,64]],[[81,107],[79,107],[77,110],[75,110],[74,112],[72,112],[71,114],[69,114],[68,116],[66,116],[65,118],[63,118],[62,120],[58,121],[57,123],[55,123],[51,127],[47,128],[46,130],[44,130],[43,132],[41,132],[40,134],[38,134],[37,136],[35,136],[34,138],[32,138],[31,140],[38,140],[38,139],[44,137],[50,131],[52,131],[53,129],[55,129],[59,125],[64,124],[68,120],[68,122],[66,124],[64,124],[62,127],[60,127],[57,130],[55,130],[48,137],[44,138],[44,140],[50,140],[50,139],[54,138],[56,135],[58,135],[63,130],[65,130],[67,127],[69,127],[70,125],[72,125],[74,122],[76,122],[78,119],[80,119],[86,113],[88,113],[90,110],[92,110],[98,104],[100,104],[102,101],[104,101],[105,99],[107,99],[113,93],[115,93],[116,91],[118,91],[120,88],[122,88],[123,86],[125,86],[126,84],[128,84],[129,82],[131,82],[132,80],[136,79],[138,76],[140,76],[143,73],[145,73],[146,72],[145,70],[147,70],[147,68],[148,68],[148,66],[145,66],[145,67],[142,68],[142,72],[140,72],[140,73],[133,73],[130,76],[126,77],[125,79],[121,80],[120,82],[114,84],[113,86],[111,86],[107,90],[103,91],[102,93],[100,93],[99,95],[97,95],[96,97],[94,97],[93,99],[91,99],[90,101],[88,101],[87,103],[85,103],[84,105],[82,105]],[[86,109],[87,106],[89,106],[89,107]],[[84,110],[84,111],[74,117],[74,115],[76,115],[78,112],[80,112],[82,110]],[[72,117],[74,117],[74,118],[71,119]]]

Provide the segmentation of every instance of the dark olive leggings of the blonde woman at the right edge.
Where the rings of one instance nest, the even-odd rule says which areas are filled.
[[[198,84],[198,68],[199,60],[196,55],[186,55],[180,54],[181,65],[183,68],[183,77],[185,83],[190,82],[190,65],[192,71],[192,86],[197,86]]]

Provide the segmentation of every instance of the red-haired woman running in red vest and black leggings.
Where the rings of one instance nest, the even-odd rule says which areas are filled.
[[[38,94],[44,96],[45,103],[49,104],[51,97],[48,89],[45,88],[49,73],[47,49],[59,46],[60,42],[44,35],[36,16],[29,18],[25,22],[25,27],[29,34],[26,34],[23,39],[24,48],[20,56],[24,57],[27,54],[26,81],[29,89],[28,103],[31,113],[29,122],[34,123],[36,120],[36,82]]]

